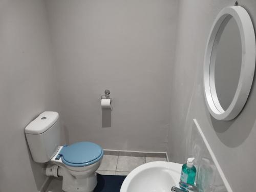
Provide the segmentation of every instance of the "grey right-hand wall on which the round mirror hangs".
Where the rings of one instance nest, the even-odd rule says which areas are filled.
[[[256,1],[240,0],[256,26]],[[188,127],[196,118],[214,151],[233,191],[256,191],[256,89],[255,83],[242,113],[232,121],[217,121],[209,115],[203,96],[203,59],[207,37],[221,9],[230,0],[180,1],[176,61],[172,80],[168,154],[184,163]]]

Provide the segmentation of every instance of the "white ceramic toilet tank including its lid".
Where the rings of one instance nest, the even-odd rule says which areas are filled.
[[[45,163],[53,158],[59,149],[60,134],[57,112],[43,112],[26,126],[25,135],[35,162]]]

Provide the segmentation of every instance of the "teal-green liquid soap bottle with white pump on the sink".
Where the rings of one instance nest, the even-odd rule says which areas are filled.
[[[182,165],[180,180],[184,183],[194,185],[197,169],[193,165],[195,158],[188,158],[187,163]]]

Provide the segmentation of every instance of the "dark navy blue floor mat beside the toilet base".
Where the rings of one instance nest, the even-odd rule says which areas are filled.
[[[126,176],[98,174],[98,184],[94,192],[119,192],[125,177]]]

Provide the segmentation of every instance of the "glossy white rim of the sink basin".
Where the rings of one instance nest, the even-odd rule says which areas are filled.
[[[133,178],[136,175],[140,174],[145,169],[155,168],[155,167],[156,168],[157,167],[166,168],[166,169],[173,171],[174,175],[172,175],[172,177],[175,181],[175,185],[179,186],[182,164],[166,162],[166,161],[154,161],[154,162],[145,163],[145,164],[140,165],[140,166],[136,167],[135,169],[133,169],[132,172],[130,174],[128,174],[127,177],[125,178],[125,180],[123,181],[120,192],[127,191],[131,181],[133,180]]]

